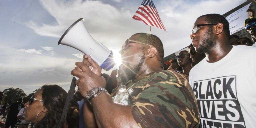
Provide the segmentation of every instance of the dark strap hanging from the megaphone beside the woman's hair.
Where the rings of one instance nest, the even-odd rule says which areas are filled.
[[[62,124],[64,124],[63,128],[66,128],[66,118],[67,118],[67,113],[68,113],[68,106],[69,106],[69,103],[70,101],[73,99],[73,95],[74,95],[74,90],[76,88],[76,84],[75,84],[75,81],[76,81],[76,78],[73,77],[72,79],[72,82],[71,82],[71,85],[70,85],[70,89],[68,91],[68,97],[67,97],[67,100],[66,100],[66,103],[65,103],[65,106],[63,108],[63,112],[62,112],[62,115],[61,115],[61,119],[60,119],[60,123],[58,125],[58,128],[62,128]]]

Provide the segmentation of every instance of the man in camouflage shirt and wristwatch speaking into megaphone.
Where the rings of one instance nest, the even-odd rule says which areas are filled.
[[[117,89],[111,95],[105,91],[101,67],[90,56],[84,55],[82,62],[75,63],[71,74],[79,78],[75,83],[87,98],[83,114],[87,127],[199,126],[194,92],[182,74],[163,70],[164,50],[158,37],[134,34],[125,41],[120,54],[122,77],[129,81],[125,82],[124,99],[133,99],[128,105],[114,101]]]

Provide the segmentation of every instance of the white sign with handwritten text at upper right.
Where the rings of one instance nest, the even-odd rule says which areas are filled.
[[[250,4],[240,8],[236,12],[233,12],[226,17],[229,23],[230,35],[245,28],[244,20],[248,18],[246,10],[249,8]]]

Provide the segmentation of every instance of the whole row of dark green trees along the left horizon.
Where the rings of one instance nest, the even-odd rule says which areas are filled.
[[[16,102],[19,98],[23,98],[23,103],[27,103],[29,99],[32,97],[32,95],[35,94],[35,91],[30,93],[29,95],[25,94],[24,91],[20,88],[7,88],[4,89],[4,99],[2,100],[2,104],[8,103],[12,104],[13,102]]]

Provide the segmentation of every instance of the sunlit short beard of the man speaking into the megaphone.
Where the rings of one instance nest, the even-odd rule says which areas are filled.
[[[140,59],[140,62],[134,66],[134,68],[131,68],[130,64],[127,63],[126,66],[124,66],[123,71],[122,71],[122,76],[121,79],[123,80],[124,83],[129,82],[130,80],[134,80],[138,71],[141,69],[144,61],[145,61],[145,52],[144,50],[142,51],[142,56]]]

